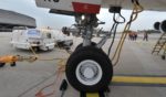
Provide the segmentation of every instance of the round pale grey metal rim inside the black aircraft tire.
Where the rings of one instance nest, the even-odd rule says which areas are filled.
[[[76,67],[76,78],[84,85],[95,85],[102,79],[102,68],[92,60],[82,61]]]

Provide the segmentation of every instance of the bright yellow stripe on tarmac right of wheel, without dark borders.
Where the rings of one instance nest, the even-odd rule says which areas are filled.
[[[166,77],[114,76],[113,83],[166,84]]]

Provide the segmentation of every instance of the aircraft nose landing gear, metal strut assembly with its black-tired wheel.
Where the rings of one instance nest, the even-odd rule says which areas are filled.
[[[75,36],[80,34],[83,37],[83,43],[75,48],[66,62],[66,78],[80,91],[105,91],[112,80],[113,66],[101,46],[91,41],[95,33],[94,28],[100,24],[96,14],[77,14],[75,21],[77,23],[75,32],[68,28],[62,30],[63,33],[71,32]]]

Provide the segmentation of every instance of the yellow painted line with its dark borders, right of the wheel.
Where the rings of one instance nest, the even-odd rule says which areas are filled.
[[[166,87],[166,76],[137,75],[137,76],[114,76],[112,79],[113,86],[153,86]]]

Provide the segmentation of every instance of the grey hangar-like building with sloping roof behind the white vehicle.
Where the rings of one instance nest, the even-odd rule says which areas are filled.
[[[0,32],[11,32],[13,26],[37,28],[35,19],[0,9]]]

